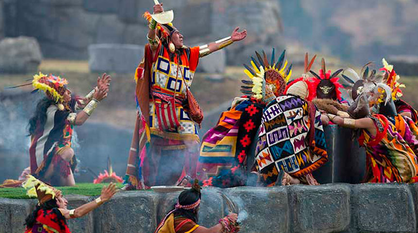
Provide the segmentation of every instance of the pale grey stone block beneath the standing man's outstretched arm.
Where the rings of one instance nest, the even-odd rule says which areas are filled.
[[[202,73],[224,73],[226,69],[226,52],[218,50],[199,59],[198,72]]]

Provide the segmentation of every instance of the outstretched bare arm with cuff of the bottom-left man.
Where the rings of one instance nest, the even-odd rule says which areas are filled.
[[[82,217],[82,216],[87,215],[90,211],[99,207],[104,202],[108,201],[110,198],[113,197],[113,195],[115,195],[115,193],[116,193],[116,185],[114,183],[110,183],[107,187],[103,186],[102,194],[96,200],[90,201],[87,204],[84,204],[73,210],[67,210],[67,209],[59,209],[59,210],[61,211],[62,215],[67,219]]]

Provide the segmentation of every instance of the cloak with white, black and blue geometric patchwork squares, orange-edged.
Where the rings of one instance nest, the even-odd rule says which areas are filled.
[[[310,111],[315,111],[314,122]],[[256,155],[256,167],[267,186],[275,184],[280,170],[296,177],[316,170],[328,161],[321,114],[316,108],[309,110],[308,102],[296,96],[271,101],[261,119]]]

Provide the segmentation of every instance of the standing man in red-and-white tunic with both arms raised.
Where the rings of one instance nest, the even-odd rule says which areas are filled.
[[[154,14],[163,11],[162,4],[154,5]],[[237,27],[224,39],[187,47],[172,23],[157,23],[148,12],[144,17],[149,21],[149,44],[135,74],[139,111],[126,168],[126,189],[174,185],[181,180],[183,170],[196,178],[198,127],[203,112],[189,89],[194,72],[201,57],[241,41],[247,34]]]

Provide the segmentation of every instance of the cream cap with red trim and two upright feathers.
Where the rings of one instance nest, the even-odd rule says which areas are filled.
[[[295,94],[305,100],[313,100],[315,96],[315,87],[313,86],[313,83],[309,81],[308,72],[311,69],[313,62],[315,61],[315,58],[316,55],[314,55],[311,61],[308,63],[308,53],[305,54],[304,73],[301,75],[301,77],[286,85],[284,94]]]

